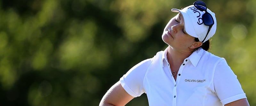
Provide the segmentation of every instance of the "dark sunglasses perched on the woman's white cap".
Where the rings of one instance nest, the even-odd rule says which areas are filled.
[[[202,20],[203,20],[204,25],[209,26],[208,32],[205,36],[205,38],[206,38],[212,28],[212,25],[214,24],[212,15],[209,12],[207,12],[206,4],[203,1],[194,2],[194,6],[199,11],[205,11],[204,15],[202,16]],[[204,40],[205,40],[205,38],[204,38]],[[204,40],[202,42],[204,42]]]

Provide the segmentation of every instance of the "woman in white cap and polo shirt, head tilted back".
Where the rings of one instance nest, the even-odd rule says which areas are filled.
[[[203,1],[173,17],[162,35],[164,51],[132,67],[103,96],[100,106],[124,106],[147,94],[149,106],[249,106],[236,75],[209,49],[215,14]]]

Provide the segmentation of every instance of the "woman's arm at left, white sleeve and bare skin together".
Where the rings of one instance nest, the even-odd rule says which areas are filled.
[[[124,106],[134,97],[143,94],[143,80],[151,60],[141,61],[124,74],[103,96],[100,106]]]

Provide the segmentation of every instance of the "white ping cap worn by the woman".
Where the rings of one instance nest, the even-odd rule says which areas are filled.
[[[190,5],[182,10],[172,9],[172,12],[180,12],[182,14],[184,18],[184,29],[188,35],[198,38],[200,42],[204,40],[209,29],[209,26],[204,25],[202,20],[202,16],[205,11],[199,11],[194,7],[194,5]],[[215,13],[209,9],[207,9],[207,12],[212,15],[214,24],[212,25],[212,29],[208,33],[204,42],[209,40],[215,34],[217,28]]]

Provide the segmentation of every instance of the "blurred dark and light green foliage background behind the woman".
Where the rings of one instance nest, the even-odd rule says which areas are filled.
[[[1,0],[0,106],[97,106],[195,0]],[[215,12],[210,52],[224,57],[256,105],[256,1],[204,0]],[[232,90],[232,89],[230,89]],[[147,106],[145,94],[127,106]]]

